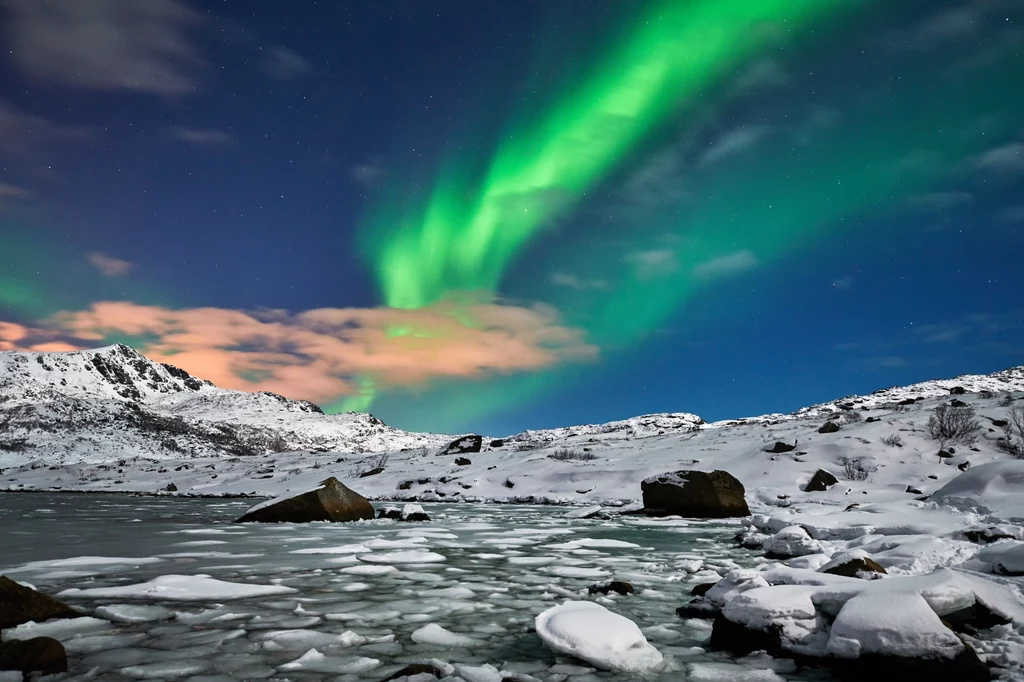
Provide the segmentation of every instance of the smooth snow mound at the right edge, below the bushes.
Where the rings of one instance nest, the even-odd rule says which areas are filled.
[[[936,491],[932,501],[1002,519],[1024,520],[1024,460],[972,467]]]

